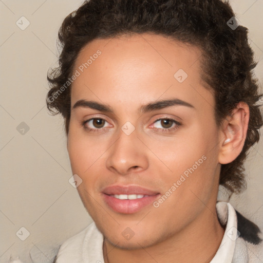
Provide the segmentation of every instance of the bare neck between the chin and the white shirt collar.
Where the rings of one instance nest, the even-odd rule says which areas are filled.
[[[216,208],[205,208],[196,220],[179,233],[156,243],[154,246],[126,250],[103,242],[105,263],[140,263],[140,262],[210,262],[216,254],[224,229],[221,227]]]

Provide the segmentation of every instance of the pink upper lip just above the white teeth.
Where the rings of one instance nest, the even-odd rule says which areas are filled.
[[[110,185],[103,189],[102,193],[106,195],[156,195],[156,191],[146,189],[137,185]]]

